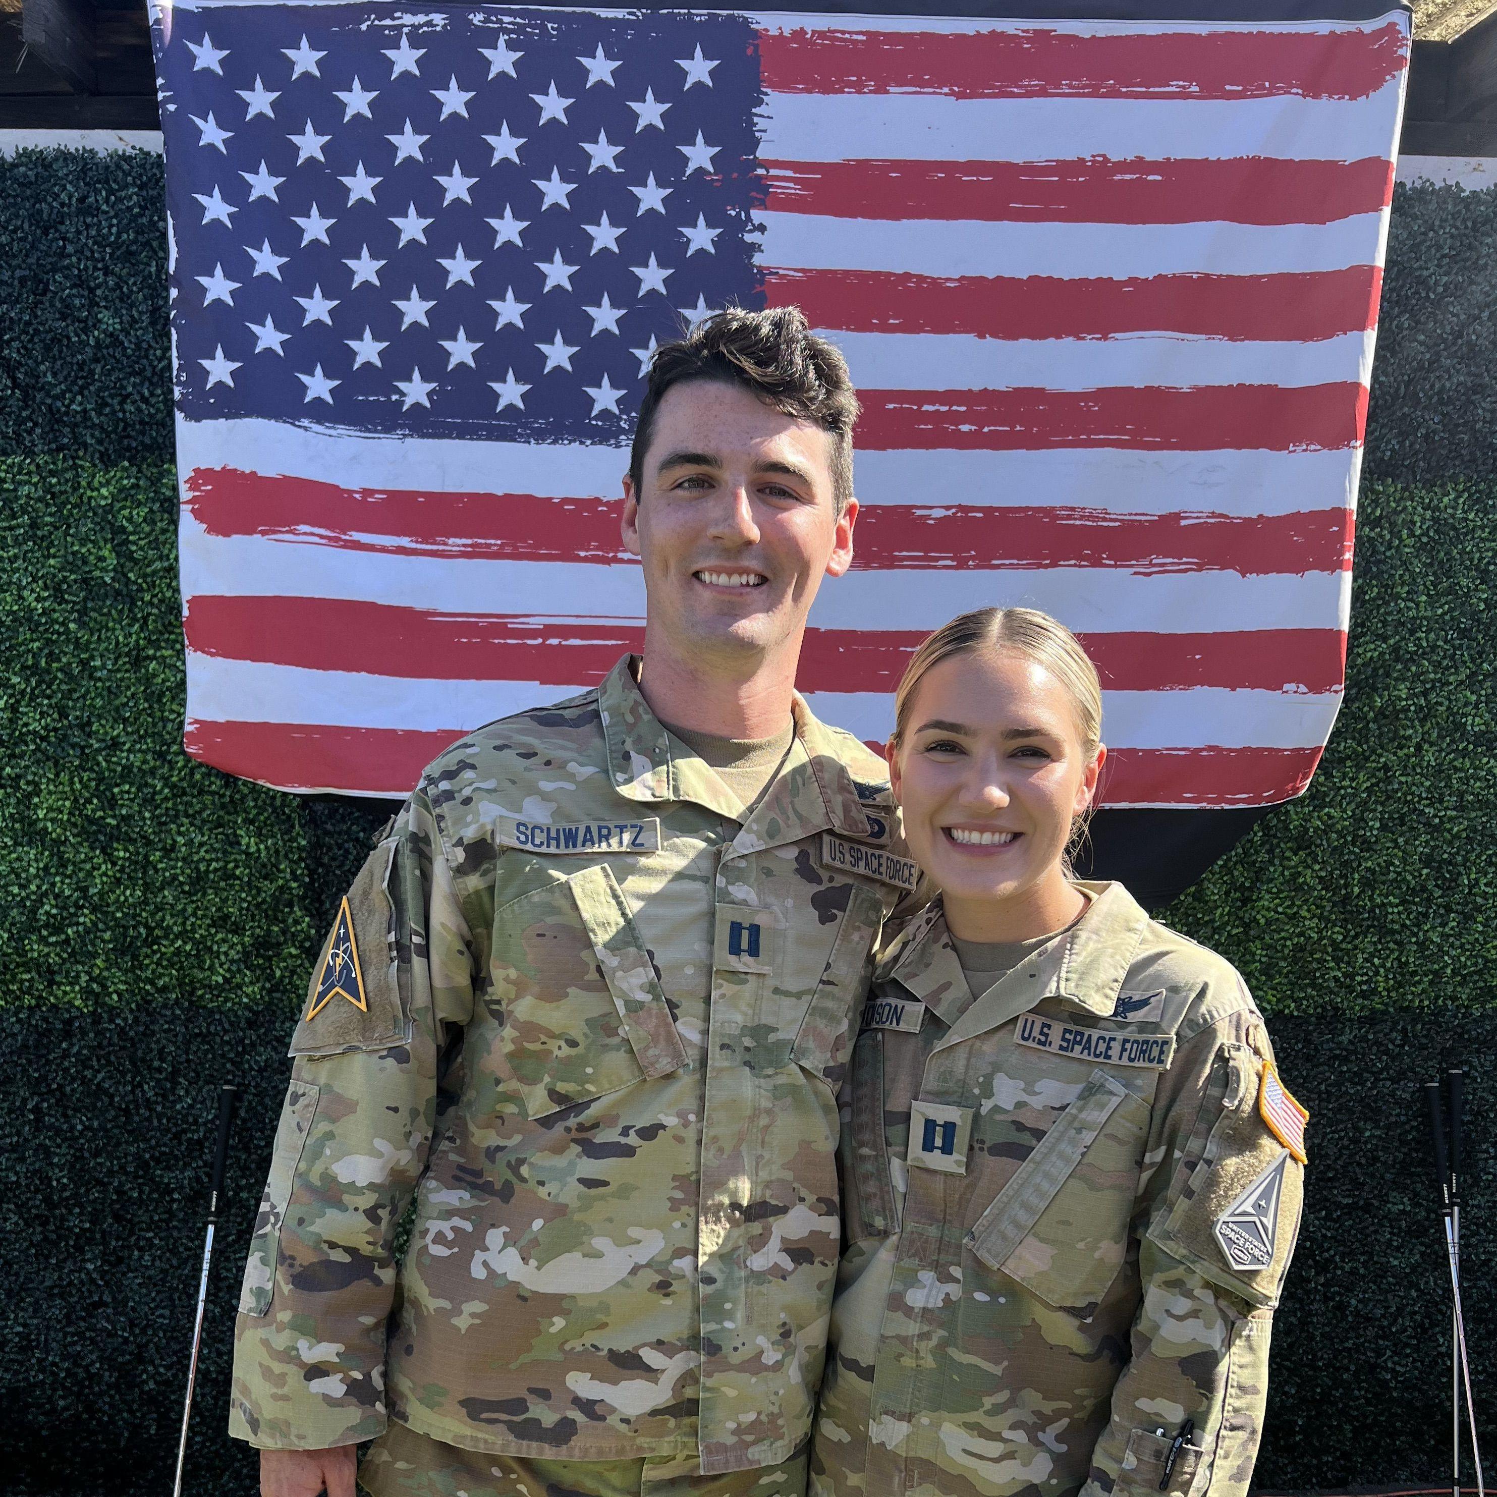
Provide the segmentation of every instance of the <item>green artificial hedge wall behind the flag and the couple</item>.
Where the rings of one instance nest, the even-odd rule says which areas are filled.
[[[0,1485],[27,1497],[169,1487],[225,1081],[247,1108],[189,1490],[254,1491],[225,1436],[237,1277],[305,973],[385,816],[181,751],[160,205],[153,157],[0,160]],[[1247,975],[1313,1112],[1268,1491],[1445,1476],[1419,1082],[1463,1061],[1497,1409],[1494,301],[1497,193],[1400,190],[1346,708],[1310,792],[1166,912]]]

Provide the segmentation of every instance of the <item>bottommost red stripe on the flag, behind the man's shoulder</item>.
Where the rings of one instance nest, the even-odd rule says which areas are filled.
[[[421,771],[467,734],[316,723],[190,719],[187,753],[228,774],[287,790],[337,787],[355,795],[403,795]],[[1319,748],[1132,748],[1108,756],[1108,805],[1262,805],[1310,783]]]

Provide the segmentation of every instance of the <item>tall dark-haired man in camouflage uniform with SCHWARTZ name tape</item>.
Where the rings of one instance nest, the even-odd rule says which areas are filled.
[[[913,885],[882,760],[793,693],[855,415],[798,311],[663,347],[642,663],[449,748],[344,900],[237,1328],[266,1497],[352,1494],[370,1439],[376,1497],[804,1491],[837,1091]]]

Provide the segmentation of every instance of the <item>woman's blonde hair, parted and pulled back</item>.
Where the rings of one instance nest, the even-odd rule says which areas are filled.
[[[1043,666],[1066,689],[1076,719],[1076,731],[1087,759],[1102,743],[1102,683],[1091,657],[1081,648],[1076,636],[1049,614],[1037,608],[976,608],[970,614],[958,614],[943,624],[910,656],[904,677],[894,693],[894,743],[898,746],[909,729],[915,693],[925,674],[955,656],[973,654],[978,650],[1012,650],[1025,660]],[[1076,817],[1067,844],[1073,850],[1085,835],[1091,807]]]

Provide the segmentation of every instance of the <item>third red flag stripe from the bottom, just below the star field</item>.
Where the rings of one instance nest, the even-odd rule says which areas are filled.
[[[528,561],[632,563],[618,501],[534,494],[341,488],[316,479],[196,470],[187,507],[216,536],[316,540],[349,551]],[[1127,515],[1096,509],[868,504],[853,566],[1127,567],[1139,572],[1340,572],[1352,564],[1344,507],[1293,515]]]

